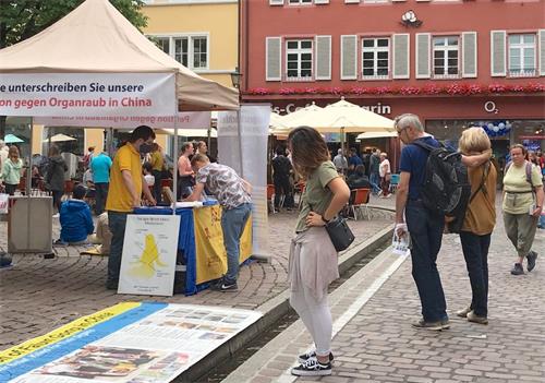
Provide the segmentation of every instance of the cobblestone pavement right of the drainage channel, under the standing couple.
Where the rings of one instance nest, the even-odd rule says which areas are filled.
[[[331,376],[290,375],[295,356],[311,347],[298,321],[259,351],[263,354],[255,355],[253,366],[250,359],[246,368],[243,364],[227,382],[545,382],[545,230],[537,230],[533,247],[542,256],[536,268],[512,276],[509,271],[514,251],[504,232],[501,216],[498,218],[489,251],[488,325],[469,323],[455,314],[470,303],[471,288],[460,240],[449,235],[444,237],[438,267],[450,330],[411,327],[411,322],[420,319],[411,261],[408,258],[399,268],[393,265],[388,272],[387,266],[391,268],[401,260],[385,252],[376,260],[389,258],[386,266],[370,264],[384,282],[376,292],[371,291],[375,286],[372,274],[360,275],[362,270],[329,297],[336,334]],[[362,298],[364,306],[350,313],[353,302]],[[347,314],[349,320],[343,322]]]

